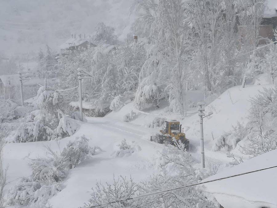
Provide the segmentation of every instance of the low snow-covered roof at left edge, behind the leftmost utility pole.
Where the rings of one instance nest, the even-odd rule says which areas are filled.
[[[18,74],[0,75],[0,82],[2,82],[5,87],[19,86],[19,84],[20,84],[19,75]],[[23,81],[23,85],[33,86],[33,85],[38,85],[38,84],[43,85],[44,79],[31,77],[30,80]]]

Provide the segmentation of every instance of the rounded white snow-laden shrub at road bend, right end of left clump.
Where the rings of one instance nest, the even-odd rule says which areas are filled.
[[[78,128],[79,124],[77,124],[76,120],[63,116],[59,121],[56,134],[61,137],[72,136]]]

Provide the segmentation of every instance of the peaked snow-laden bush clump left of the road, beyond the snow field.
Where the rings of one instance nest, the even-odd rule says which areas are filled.
[[[76,120],[64,115],[62,96],[58,92],[38,90],[39,110],[21,119],[13,142],[48,141],[73,135],[78,129]],[[38,112],[37,112],[38,111]]]

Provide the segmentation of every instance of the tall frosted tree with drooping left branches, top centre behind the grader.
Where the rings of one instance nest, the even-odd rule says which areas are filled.
[[[151,44],[147,50],[147,60],[139,74],[139,88],[135,97],[135,107],[143,108],[148,103],[158,106],[161,91],[159,84],[168,82],[169,102],[175,111],[184,114],[184,83],[188,78],[189,27],[183,1],[137,1],[139,18],[135,28],[149,30]],[[148,27],[148,28],[147,28]],[[159,81],[159,82],[158,82]],[[161,88],[161,87],[160,87]]]

